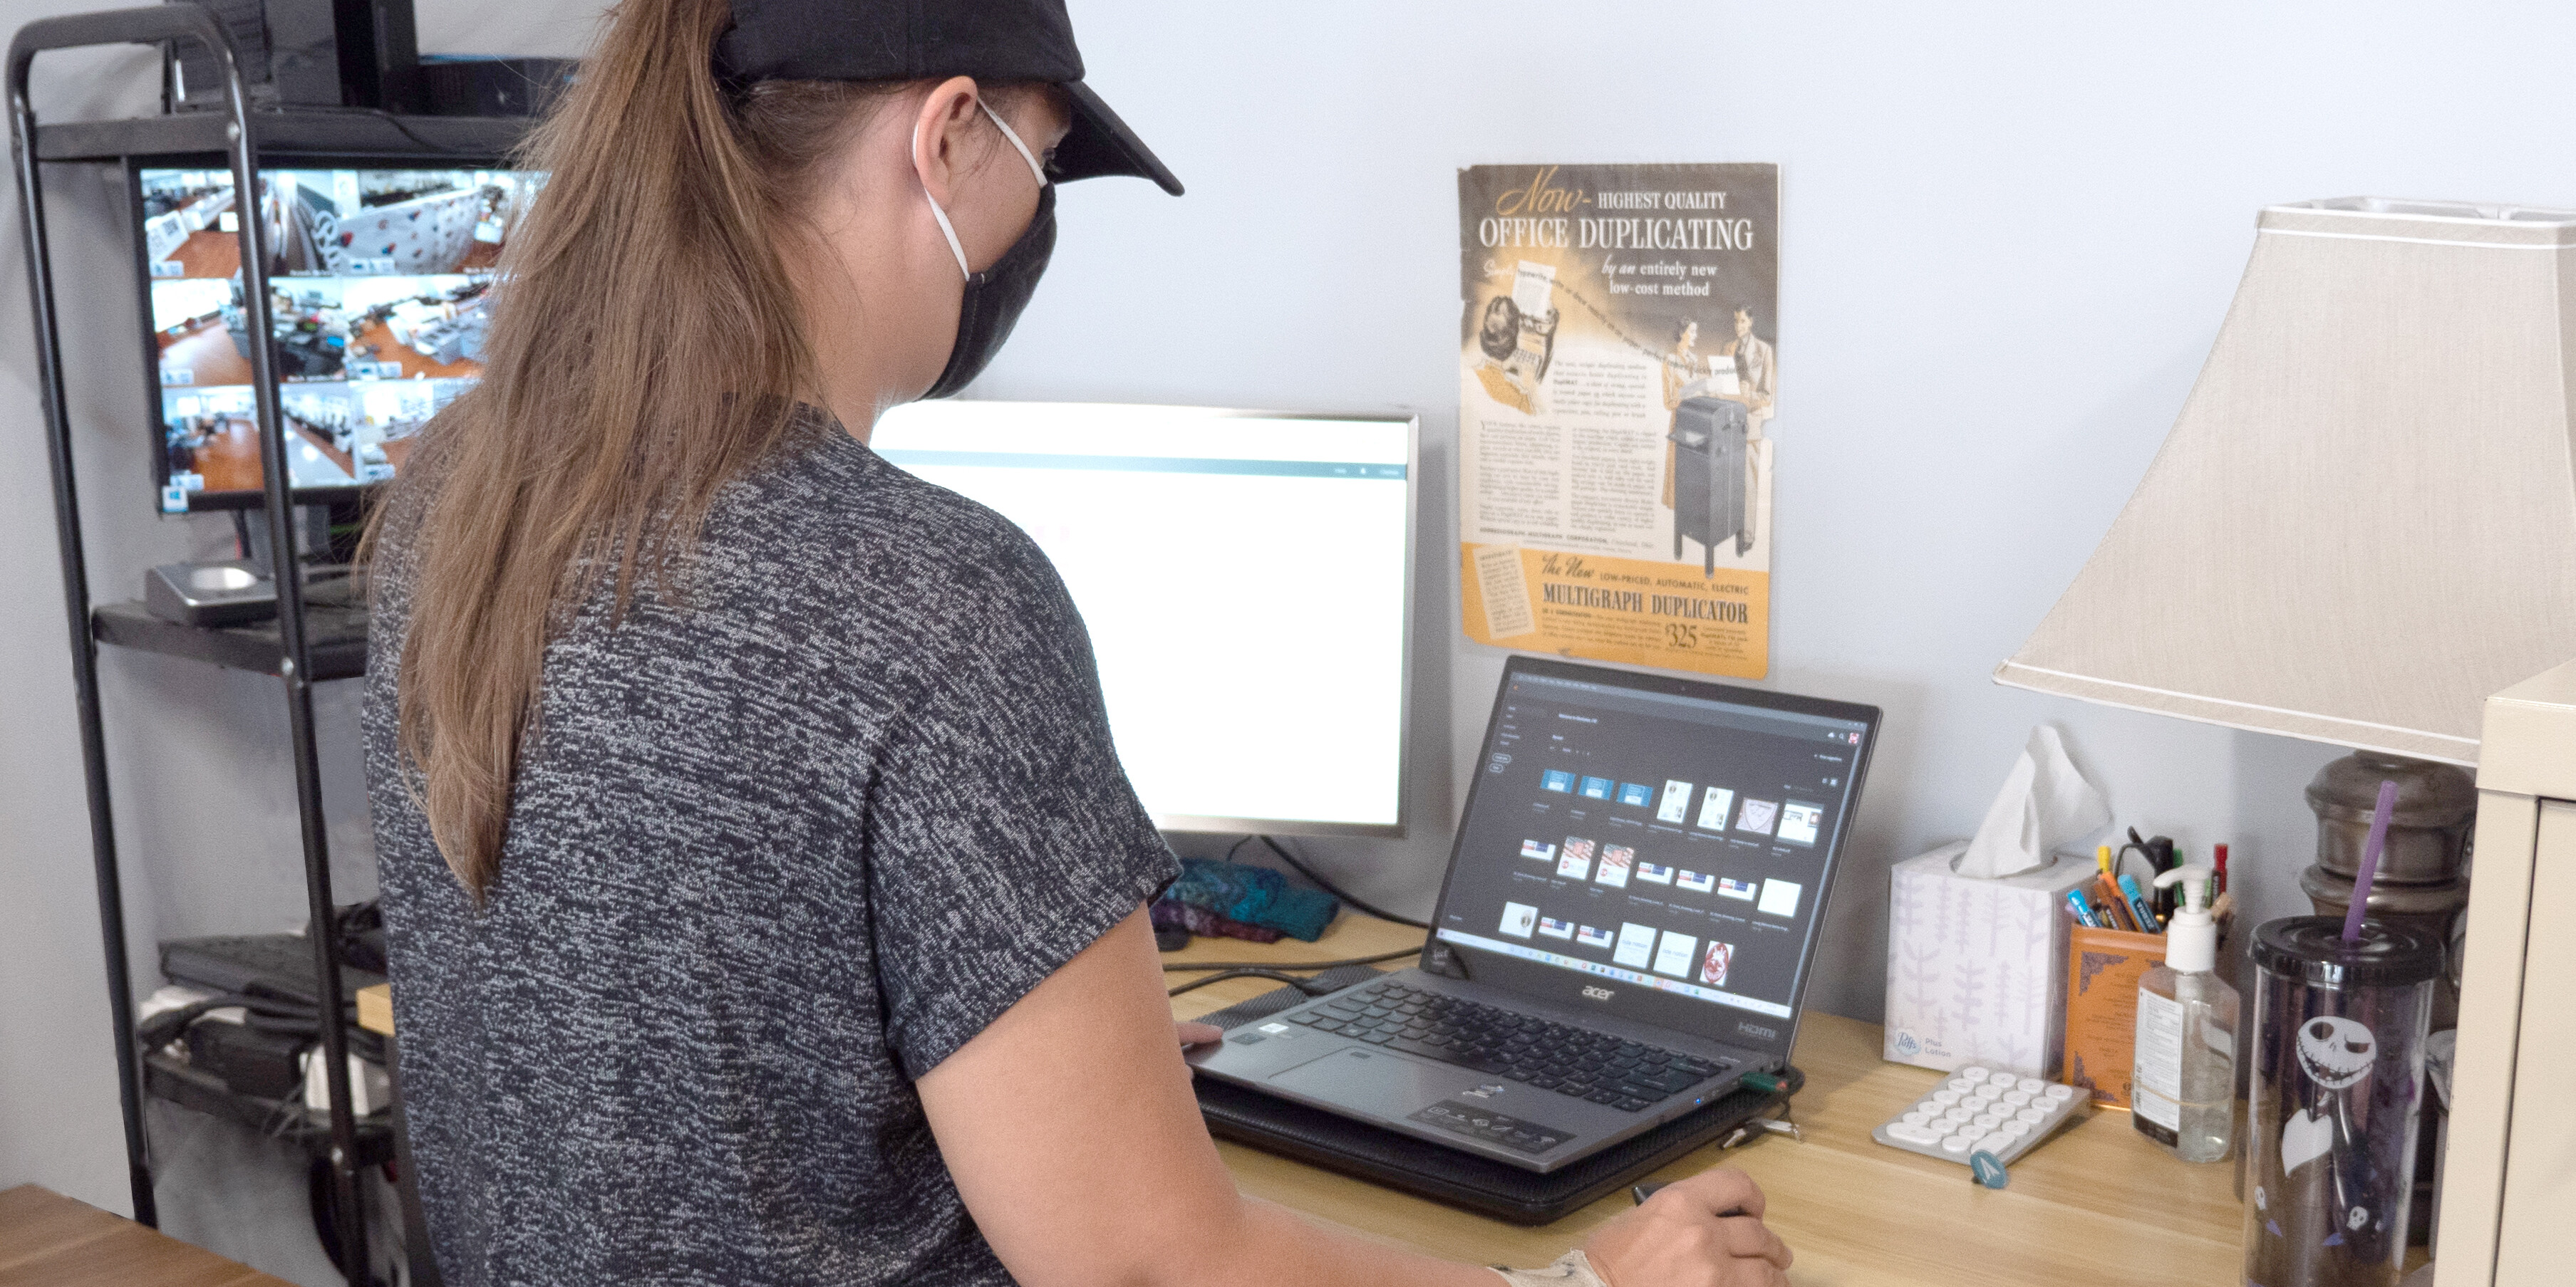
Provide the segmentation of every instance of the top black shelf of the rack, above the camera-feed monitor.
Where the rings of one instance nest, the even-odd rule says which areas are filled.
[[[36,126],[36,160],[113,162],[124,157],[183,157],[224,152],[229,116],[175,111],[126,121],[64,121]],[[252,111],[260,157],[456,157],[466,165],[502,165],[533,121],[526,116],[389,116],[371,111],[270,108]]]

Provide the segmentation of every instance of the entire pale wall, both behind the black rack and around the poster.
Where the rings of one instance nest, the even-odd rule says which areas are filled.
[[[0,26],[95,0],[0,0]],[[425,0],[422,44],[569,51],[587,0]],[[1965,834],[2035,721],[2123,824],[2233,842],[2257,914],[2298,911],[2298,788],[2331,752],[1999,690],[2190,386],[2267,201],[2576,203],[2576,13],[2398,3],[1208,5],[1077,0],[1092,82],[1190,183],[1084,183],[979,394],[1414,407],[1425,417],[1425,826],[1311,842],[1425,911],[1499,651],[1458,641],[1455,185],[1471,162],[1783,165],[1783,402],[1770,685],[1888,731],[1814,1001],[1870,1017],[1883,867]],[[131,64],[131,59],[129,59]],[[95,103],[57,75],[41,103]],[[160,523],[131,293],[95,185],[57,214],[90,301],[75,363],[93,571],[224,543]],[[85,224],[82,224],[85,221]],[[15,227],[15,216],[8,219]],[[77,232],[75,232],[77,224]],[[10,250],[15,237],[10,237]],[[23,278],[0,273],[0,1187],[124,1207],[70,667]],[[2391,515],[2391,530],[2429,523]],[[1229,623],[1182,623],[1224,631]],[[301,924],[283,718],[265,680],[108,654],[134,937]],[[350,700],[322,700],[335,839],[363,880]],[[1216,731],[1213,736],[1226,736]],[[142,970],[149,976],[149,970]]]

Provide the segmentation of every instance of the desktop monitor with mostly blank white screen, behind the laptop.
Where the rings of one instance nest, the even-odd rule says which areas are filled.
[[[920,402],[871,445],[1056,564],[1159,826],[1399,837],[1414,432],[1404,414]]]

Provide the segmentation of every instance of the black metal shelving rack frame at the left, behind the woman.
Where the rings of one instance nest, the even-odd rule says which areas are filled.
[[[106,44],[173,41],[204,44],[224,72],[222,111],[165,111],[124,121],[39,124],[28,100],[28,72],[36,54]],[[144,1140],[142,1094],[175,1099],[234,1120],[252,1104],[227,1099],[219,1084],[185,1076],[185,1068],[142,1058],[134,1048],[134,991],[126,970],[124,880],[116,857],[116,826],[108,811],[108,759],[100,736],[98,646],[126,646],[185,656],[229,669],[276,674],[286,695],[289,736],[294,741],[296,816],[304,844],[304,888],[312,916],[314,973],[322,986],[325,1081],[330,1086],[327,1125],[304,1120],[289,1138],[327,1158],[340,1212],[340,1251],[350,1282],[368,1279],[366,1220],[358,1174],[384,1161],[392,1133],[361,1122],[350,1112],[345,994],[332,919],[330,839],[322,824],[322,772],[314,749],[312,685],[348,680],[366,669],[363,610],[307,605],[301,577],[276,577],[278,618],[240,628],[185,628],[152,618],[139,602],[93,607],[90,571],[80,541],[80,494],[72,461],[72,425],[62,373],[62,335],[54,296],[52,247],[44,224],[41,167],[54,162],[124,165],[142,160],[167,165],[229,165],[237,201],[258,201],[260,165],[276,162],[420,162],[448,160],[459,167],[497,167],[518,144],[528,121],[469,116],[394,116],[376,111],[255,108],[232,44],[214,13],[201,5],[149,5],[106,13],[41,18],[18,28],[8,51],[10,160],[18,167],[18,201],[26,232],[28,293],[36,309],[36,358],[44,396],[44,430],[54,481],[54,523],[62,541],[62,595],[72,636],[72,682],[80,703],[80,759],[90,806],[90,857],[98,880],[98,921],[108,968],[108,1014],[116,1027],[116,1084],[124,1109],[126,1163],[134,1187],[134,1218],[157,1223],[152,1202],[152,1158]],[[260,219],[240,219],[242,314],[252,337],[268,337],[268,260]],[[260,432],[263,510],[278,569],[296,569],[296,525],[286,471],[286,425],[278,414],[273,345],[252,342],[250,366]]]

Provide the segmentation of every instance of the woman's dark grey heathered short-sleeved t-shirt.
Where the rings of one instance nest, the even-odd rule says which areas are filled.
[[[1010,1282],[912,1084],[1175,875],[1046,556],[837,430],[732,484],[683,605],[546,651],[477,911],[397,780],[386,553],[366,770],[448,1287]]]

